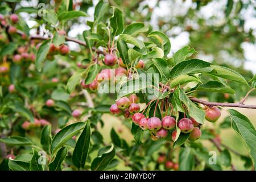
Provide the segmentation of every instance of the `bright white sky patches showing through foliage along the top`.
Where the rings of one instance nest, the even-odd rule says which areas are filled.
[[[150,7],[155,7],[156,2],[158,0],[148,0],[143,1],[143,4],[147,4]],[[238,0],[234,0],[238,1]],[[242,0],[243,2],[247,2],[249,0]],[[97,4],[97,0],[93,1],[94,6]],[[255,1],[256,4],[256,1]],[[26,1],[22,1],[22,6],[36,6],[38,5],[38,1],[33,0],[32,2],[28,3]],[[195,4],[192,3],[192,0],[166,0],[166,1],[160,1],[159,7],[155,7],[154,11],[151,16],[151,25],[157,29],[157,22],[159,17],[164,16],[172,16],[172,15],[185,15],[189,7],[195,6]],[[198,12],[199,15],[204,17],[205,19],[208,19],[211,16],[217,16],[218,21],[217,23],[223,23],[222,20],[224,20],[224,11],[223,8],[226,6],[226,0],[225,1],[212,1],[208,3],[208,5],[201,7],[200,11]],[[175,7],[175,8],[172,8]],[[142,14],[145,14],[147,12],[142,11]],[[253,7],[247,9],[246,11],[241,12],[243,16],[245,17],[245,30],[249,31],[250,28],[253,28],[254,35],[256,36],[256,15],[255,10]],[[80,18],[81,24],[75,24],[72,26],[72,30],[68,32],[68,35],[71,37],[76,37],[78,34],[82,34],[84,30],[88,30],[89,27],[86,26],[85,23],[86,20],[93,20],[93,14],[94,14],[94,7],[90,7],[88,10],[89,17],[87,18]],[[23,14],[24,19],[27,19],[27,23],[29,27],[34,26],[35,22],[32,20],[28,20],[28,17],[26,16],[26,13]],[[171,53],[176,52],[178,49],[186,46],[189,43],[189,32],[182,31],[181,28],[175,27],[172,28],[173,32],[179,33],[178,36],[175,36],[175,38],[170,37],[171,40]],[[31,31],[31,34],[35,34],[35,31]],[[75,49],[77,47],[76,43],[69,43],[69,46],[71,48]],[[251,70],[254,74],[256,73],[256,44],[251,44],[244,42],[242,43],[242,48],[245,53],[245,69]],[[211,55],[199,55],[200,58],[209,59],[208,61],[211,61],[212,56]]]

